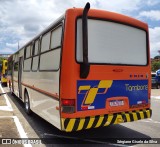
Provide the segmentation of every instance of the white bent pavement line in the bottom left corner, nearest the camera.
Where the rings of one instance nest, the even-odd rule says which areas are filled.
[[[19,119],[17,116],[0,116],[0,118],[13,118],[14,119],[14,122],[16,124],[16,127],[17,127],[17,130],[18,130],[18,133],[20,135],[21,138],[26,138],[28,139]],[[24,147],[32,147],[31,144],[23,144]]]

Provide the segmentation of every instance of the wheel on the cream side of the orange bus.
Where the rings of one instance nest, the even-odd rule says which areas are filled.
[[[27,91],[25,91],[24,93],[24,108],[25,108],[26,113],[28,115],[31,115],[32,111],[30,109],[30,100],[29,100],[29,95]]]

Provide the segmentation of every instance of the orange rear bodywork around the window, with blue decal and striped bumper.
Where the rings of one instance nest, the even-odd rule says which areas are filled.
[[[147,24],[116,13],[90,10],[88,18],[144,30],[147,60],[146,65],[143,66],[91,63],[88,77],[81,79],[80,63],[76,59],[76,26],[77,19],[81,16],[82,9],[70,9],[66,12],[60,98],[61,100],[75,99],[75,112],[61,112],[62,130],[70,132],[94,128],[93,124],[97,124],[96,127],[105,126],[100,125],[100,122],[107,118],[109,124],[117,124],[151,117],[151,71]],[[126,113],[127,119],[123,118],[123,113]],[[132,116],[134,116],[133,120]]]

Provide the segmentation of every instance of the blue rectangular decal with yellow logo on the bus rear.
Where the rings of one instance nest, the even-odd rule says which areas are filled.
[[[106,100],[127,97],[129,106],[148,103],[148,80],[79,80],[77,110],[103,109]]]

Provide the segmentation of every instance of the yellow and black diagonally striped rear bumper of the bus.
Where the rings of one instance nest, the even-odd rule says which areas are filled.
[[[62,118],[62,130],[72,132],[90,128],[98,128],[101,126],[150,118],[151,115],[151,109],[143,109],[139,111],[96,115],[85,118]]]

